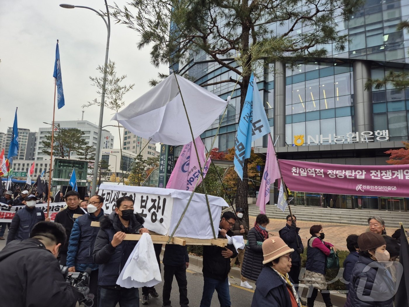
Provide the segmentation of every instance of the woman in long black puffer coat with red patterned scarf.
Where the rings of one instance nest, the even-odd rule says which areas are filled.
[[[263,269],[263,248],[261,245],[268,238],[266,227],[270,220],[265,214],[258,214],[254,227],[247,234],[247,244],[244,253],[241,275],[256,281]]]

